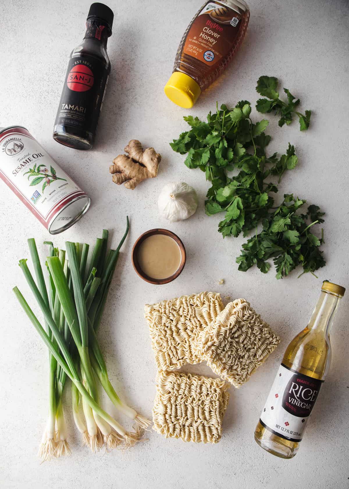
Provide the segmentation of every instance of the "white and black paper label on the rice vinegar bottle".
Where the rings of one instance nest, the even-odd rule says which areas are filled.
[[[275,435],[300,442],[323,380],[280,365],[260,422]]]

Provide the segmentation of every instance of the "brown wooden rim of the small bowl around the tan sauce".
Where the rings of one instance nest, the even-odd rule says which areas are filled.
[[[181,253],[180,265],[179,265],[178,269],[175,271],[175,273],[173,275],[171,275],[170,277],[162,278],[162,279],[157,279],[157,278],[149,277],[148,275],[146,275],[144,273],[144,271],[142,270],[142,268],[139,266],[139,262],[138,262],[139,246],[141,245],[141,243],[143,243],[143,241],[146,238],[149,238],[149,236],[153,236],[153,234],[164,234],[165,236],[170,236],[170,238],[172,238],[173,240],[175,240],[175,242],[179,246],[180,253]],[[184,268],[185,261],[187,259],[187,255],[186,255],[186,252],[185,252],[184,244],[182,243],[182,241],[178,238],[178,236],[175,233],[173,233],[172,231],[169,231],[168,229],[150,229],[149,231],[146,231],[145,233],[143,233],[137,239],[137,241],[135,242],[135,244],[133,244],[132,253],[131,253],[131,259],[132,259],[133,268],[136,270],[137,274],[143,280],[145,280],[146,282],[149,282],[150,284],[163,285],[163,284],[168,284],[169,282],[172,282],[173,280],[175,280],[175,278],[178,277],[178,275],[180,275],[180,273],[182,272],[182,270]]]

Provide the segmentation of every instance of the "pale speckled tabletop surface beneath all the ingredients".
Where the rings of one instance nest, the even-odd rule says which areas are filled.
[[[233,105],[239,99],[253,104],[256,81],[262,74],[278,76],[302,98],[302,109],[313,110],[311,129],[298,124],[280,129],[272,116],[268,132],[271,150],[291,141],[299,167],[286,178],[281,194],[293,191],[326,210],[324,251],[326,268],[319,280],[292,273],[276,281],[271,271],[241,273],[237,256],[242,238],[221,239],[218,217],[204,214],[207,189],[199,171],[188,170],[183,157],[168,142],[186,129],[177,108],[163,95],[172,71],[178,42],[200,2],[177,0],[110,0],[114,10],[109,40],[112,74],[101,117],[97,144],[91,152],[74,151],[55,143],[52,127],[60,99],[69,52],[84,34],[87,0],[0,0],[0,126],[20,124],[29,129],[57,161],[87,190],[93,200],[87,216],[55,238],[92,242],[103,227],[112,230],[115,244],[124,231],[125,215],[131,233],[111,289],[100,329],[112,380],[131,405],[151,416],[155,366],[147,326],[146,302],[201,290],[223,296],[246,297],[282,336],[276,352],[240,390],[231,388],[218,445],[185,444],[154,432],[149,441],[130,451],[90,454],[80,446],[65,395],[65,413],[72,456],[39,464],[37,449],[47,412],[47,352],[19,310],[11,292],[18,284],[30,295],[17,262],[28,256],[26,238],[42,242],[49,236],[11,191],[1,185],[0,256],[0,485],[2,488],[127,488],[202,489],[347,488],[348,469],[348,313],[345,297],[333,328],[333,360],[314,408],[299,454],[291,461],[269,455],[253,440],[262,404],[284,349],[302,329],[318,298],[321,281],[330,278],[349,286],[348,277],[348,43],[349,9],[345,0],[249,0],[251,22],[233,66],[204,93],[191,112],[204,117],[216,100]],[[129,139],[154,146],[163,156],[158,178],[129,191],[111,182],[109,163]],[[157,212],[162,186],[184,180],[196,187],[200,206],[187,222],[169,224]],[[154,287],[138,278],[131,267],[135,239],[156,226],[172,229],[184,241],[188,260],[172,284]],[[225,284],[218,285],[220,278]],[[31,302],[33,302],[31,300]],[[37,311],[37,309],[35,309]],[[210,375],[203,365],[188,371]],[[115,412],[109,402],[103,402]]]

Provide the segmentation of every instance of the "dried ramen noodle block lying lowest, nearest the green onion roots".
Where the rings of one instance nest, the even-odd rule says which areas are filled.
[[[181,372],[158,372],[153,429],[184,442],[218,443],[228,405],[228,384]]]

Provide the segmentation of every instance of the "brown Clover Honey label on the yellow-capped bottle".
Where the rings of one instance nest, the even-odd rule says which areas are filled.
[[[183,54],[213,67],[228,55],[242,25],[241,15],[233,8],[207,2],[192,23]]]

